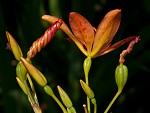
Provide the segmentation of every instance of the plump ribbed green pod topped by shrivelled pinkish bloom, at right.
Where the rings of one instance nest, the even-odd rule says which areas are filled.
[[[128,78],[128,68],[125,65],[120,64],[119,66],[117,66],[115,71],[115,79],[118,86],[118,91],[123,90],[124,85],[127,82],[127,78]]]

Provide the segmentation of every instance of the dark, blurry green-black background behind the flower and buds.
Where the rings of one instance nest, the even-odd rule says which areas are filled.
[[[122,10],[121,26],[113,43],[129,36],[140,36],[141,41],[126,56],[129,69],[127,84],[112,106],[113,113],[148,113],[150,102],[150,1],[149,0],[0,0],[0,113],[33,113],[26,95],[15,79],[14,56],[6,50],[8,31],[22,48],[24,57],[32,43],[43,35],[49,24],[41,19],[50,14],[68,24],[68,15],[75,11],[86,17],[97,27],[110,10]],[[82,68],[86,58],[75,44],[65,40],[67,36],[58,32],[55,38],[32,60],[45,75],[48,84],[59,98],[56,86],[60,85],[70,96],[78,113],[83,113],[86,103],[79,79],[84,80]],[[103,113],[115,95],[117,86],[114,72],[118,65],[121,48],[93,59],[89,74],[90,86],[95,92],[98,113]],[[34,82],[34,80],[33,80]],[[43,113],[62,112],[48,97],[43,88],[34,82]]]

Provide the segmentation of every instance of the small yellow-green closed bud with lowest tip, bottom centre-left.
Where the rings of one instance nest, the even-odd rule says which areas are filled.
[[[59,95],[60,95],[61,100],[64,103],[64,105],[67,108],[71,108],[73,105],[72,105],[72,102],[71,102],[69,96],[66,94],[66,92],[60,86],[57,86],[57,89],[59,91]]]

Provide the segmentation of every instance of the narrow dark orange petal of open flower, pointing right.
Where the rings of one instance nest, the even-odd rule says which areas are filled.
[[[111,52],[111,51],[113,51],[113,50],[119,48],[120,46],[122,46],[122,45],[124,45],[124,44],[126,44],[126,43],[128,43],[128,42],[131,42],[131,41],[134,40],[135,38],[137,38],[137,36],[132,36],[132,37],[123,39],[123,40],[121,40],[121,41],[119,41],[119,42],[113,44],[112,46],[110,46],[110,47],[108,47],[108,48],[105,48],[105,49],[99,51],[99,52],[95,55],[95,57],[98,57],[98,56],[102,56],[102,55],[104,55],[104,54],[107,54],[107,53],[109,53],[109,52]]]

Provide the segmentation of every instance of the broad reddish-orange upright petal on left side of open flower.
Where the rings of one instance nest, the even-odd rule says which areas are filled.
[[[89,21],[82,15],[71,12],[69,23],[76,38],[86,46],[88,52],[91,52],[94,41],[94,30]]]

